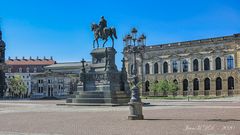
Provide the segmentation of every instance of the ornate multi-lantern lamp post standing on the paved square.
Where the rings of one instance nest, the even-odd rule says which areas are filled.
[[[142,54],[144,52],[144,45],[146,43],[146,36],[141,35],[137,38],[137,29],[133,28],[131,30],[131,34],[125,36],[123,41],[126,43],[128,47],[127,52],[129,54],[133,54],[133,68],[131,68],[131,77],[130,79],[133,81],[133,88],[131,90],[131,99],[129,104],[130,115],[128,116],[129,120],[143,120],[142,114],[142,101],[139,94],[138,84],[138,76],[137,76],[137,60],[136,55]],[[132,45],[133,42],[133,45]],[[137,45],[136,45],[137,42]]]

